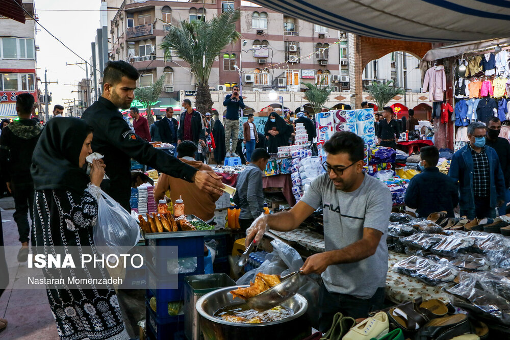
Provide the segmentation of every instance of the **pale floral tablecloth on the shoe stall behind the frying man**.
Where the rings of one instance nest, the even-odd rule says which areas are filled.
[[[310,253],[320,253],[325,251],[324,236],[320,233],[311,231],[307,228],[299,227],[292,231],[274,231],[266,233],[267,236],[280,239],[295,247],[300,253],[303,248]],[[301,251],[300,251],[301,250]],[[389,251],[388,275],[386,277],[386,298],[394,303],[402,303],[414,300],[420,296],[423,299],[440,299],[448,301],[442,285],[429,286],[417,278],[397,273],[393,265],[402,259],[409,257],[406,254]]]

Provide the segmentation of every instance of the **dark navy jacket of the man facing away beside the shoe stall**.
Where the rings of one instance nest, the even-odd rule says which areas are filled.
[[[458,204],[458,185],[437,167],[426,168],[411,179],[404,200],[407,206],[416,209],[419,217],[427,218],[441,211],[446,211],[448,217],[455,217],[453,208]]]

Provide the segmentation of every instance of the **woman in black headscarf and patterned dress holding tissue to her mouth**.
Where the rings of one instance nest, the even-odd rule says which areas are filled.
[[[90,176],[85,158],[90,153],[92,130],[84,120],[50,120],[34,150],[35,253],[70,254],[75,268],[43,268],[48,279],[108,278],[101,267],[82,266],[84,253],[96,253],[92,228],[97,220],[99,185],[105,174],[94,160]],[[129,339],[115,290],[110,285],[62,286],[46,283],[49,305],[61,339]]]

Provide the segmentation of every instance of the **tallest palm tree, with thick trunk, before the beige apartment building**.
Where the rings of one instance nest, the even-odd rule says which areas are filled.
[[[160,48],[164,51],[165,61],[173,54],[187,62],[196,76],[196,108],[199,112],[211,112],[209,75],[221,51],[241,37],[236,31],[240,17],[239,10],[230,10],[209,21],[183,20],[180,26],[172,25],[163,38]]]

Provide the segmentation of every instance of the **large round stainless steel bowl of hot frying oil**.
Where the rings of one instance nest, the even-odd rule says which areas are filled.
[[[294,295],[282,306],[294,310],[291,317],[260,324],[243,324],[220,320],[213,317],[222,308],[243,304],[234,300],[229,292],[245,286],[225,287],[202,296],[196,302],[196,310],[200,318],[200,330],[205,340],[261,340],[263,338],[279,338],[300,340],[311,334],[311,324],[306,315],[307,300],[299,294]]]

